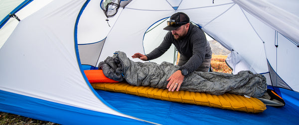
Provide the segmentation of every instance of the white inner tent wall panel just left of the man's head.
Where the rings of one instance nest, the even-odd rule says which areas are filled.
[[[159,4],[157,4],[157,2]],[[167,5],[166,7],[165,4]],[[151,7],[148,8],[149,6]],[[132,12],[136,14],[132,14]],[[136,0],[130,2],[130,4],[126,6],[126,9],[121,11],[121,15],[108,34],[106,39],[107,44],[104,45],[99,60],[105,60],[106,57],[114,53],[115,50],[124,51],[128,55],[133,55],[136,52],[144,52],[143,38],[147,29],[154,22],[171,15],[172,12],[173,8],[169,6],[166,1]],[[126,31],[129,29],[130,32]],[[110,46],[113,46],[114,49],[110,49]],[[132,49],[132,47],[134,47],[134,49]],[[171,57],[173,57],[173,54]],[[140,61],[139,59],[133,60]]]

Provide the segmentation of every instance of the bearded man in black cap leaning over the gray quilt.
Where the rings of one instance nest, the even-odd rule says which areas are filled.
[[[174,44],[180,58],[180,68],[174,72],[167,81],[168,91],[179,90],[184,77],[193,71],[208,72],[211,66],[212,51],[204,32],[196,25],[190,24],[187,14],[177,12],[171,15],[164,30],[169,32],[165,35],[162,43],[147,55],[135,53],[133,58],[147,61],[164,54]]]

